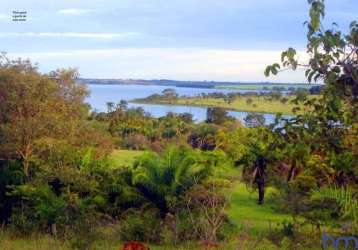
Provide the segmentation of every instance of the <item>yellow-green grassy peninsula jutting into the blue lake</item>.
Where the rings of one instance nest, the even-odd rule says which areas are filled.
[[[252,103],[248,103],[248,99],[252,100]],[[288,101],[283,104],[279,100],[269,101],[264,97],[239,97],[236,98],[233,102],[225,102],[223,98],[202,98],[202,97],[180,97],[175,100],[153,100],[146,103],[157,103],[157,104],[175,104],[175,105],[185,105],[185,106],[203,106],[203,107],[221,107],[227,110],[235,111],[246,111],[246,112],[258,112],[258,113],[282,113],[292,115],[292,109],[297,107],[295,104],[292,104],[291,101],[295,98],[288,96]],[[137,102],[138,100],[136,100]],[[139,102],[141,102],[139,100]]]

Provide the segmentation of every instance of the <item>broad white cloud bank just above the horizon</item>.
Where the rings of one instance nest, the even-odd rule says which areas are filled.
[[[304,82],[303,71],[285,71],[265,78],[267,65],[280,60],[281,51],[124,48],[17,54],[40,64],[44,71],[77,67],[83,77],[216,81]],[[11,54],[10,54],[11,56]],[[301,59],[306,56],[301,52]]]

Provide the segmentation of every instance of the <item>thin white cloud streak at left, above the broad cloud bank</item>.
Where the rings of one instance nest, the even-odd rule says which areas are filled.
[[[88,32],[3,32],[0,37],[39,37],[39,38],[94,38],[122,39],[139,35],[136,32],[125,33],[88,33]]]

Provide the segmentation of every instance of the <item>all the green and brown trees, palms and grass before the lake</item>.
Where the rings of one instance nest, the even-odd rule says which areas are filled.
[[[0,247],[320,249],[323,230],[356,235],[358,24],[324,30],[324,2],[309,4],[309,62],[290,48],[265,74],[304,67],[325,83],[319,95],[198,97],[293,109],[269,126],[220,107],[199,124],[124,101],[91,112],[75,70],[42,74],[2,55]],[[183,100],[173,89],[155,98]]]

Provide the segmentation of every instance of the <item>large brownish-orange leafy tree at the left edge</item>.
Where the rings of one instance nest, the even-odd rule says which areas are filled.
[[[71,138],[88,115],[88,92],[77,71],[43,75],[30,61],[0,58],[0,158],[20,159],[28,176],[36,144],[45,138]]]

